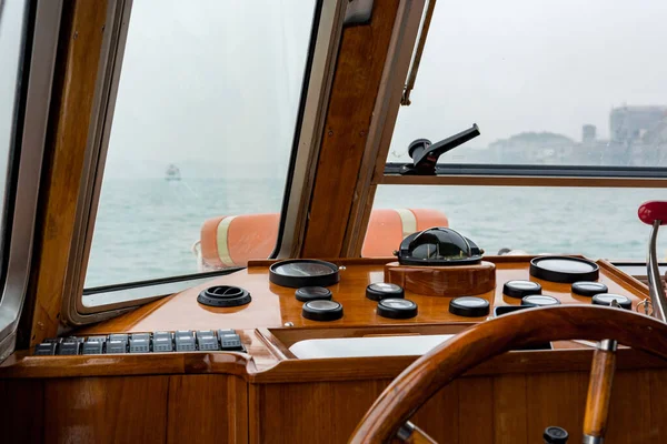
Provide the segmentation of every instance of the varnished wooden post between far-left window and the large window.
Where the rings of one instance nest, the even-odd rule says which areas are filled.
[[[33,256],[36,284],[28,296],[34,299],[28,323],[31,345],[56,336],[60,324],[106,13],[107,0],[64,2]]]

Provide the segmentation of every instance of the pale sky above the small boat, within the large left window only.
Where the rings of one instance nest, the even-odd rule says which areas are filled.
[[[313,4],[136,0],[106,175],[285,176]]]

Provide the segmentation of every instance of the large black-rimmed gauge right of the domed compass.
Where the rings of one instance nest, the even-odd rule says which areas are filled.
[[[596,263],[579,258],[540,256],[530,261],[530,275],[550,282],[595,281],[599,272]]]

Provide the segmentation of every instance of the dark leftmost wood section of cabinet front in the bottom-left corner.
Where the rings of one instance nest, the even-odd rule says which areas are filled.
[[[44,384],[0,380],[0,442],[43,443]]]

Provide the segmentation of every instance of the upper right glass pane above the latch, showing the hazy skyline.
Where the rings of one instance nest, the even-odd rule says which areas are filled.
[[[664,0],[438,2],[388,162],[475,122],[441,163],[667,167],[666,21]]]

